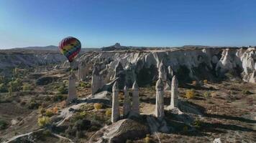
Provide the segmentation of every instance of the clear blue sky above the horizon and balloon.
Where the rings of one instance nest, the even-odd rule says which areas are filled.
[[[256,45],[255,0],[1,0],[0,49]]]

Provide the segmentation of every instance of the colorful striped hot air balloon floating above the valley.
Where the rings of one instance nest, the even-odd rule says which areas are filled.
[[[79,51],[81,51],[81,42],[72,36],[68,36],[60,41],[59,49],[60,52],[67,57],[68,61],[71,63],[76,58]]]

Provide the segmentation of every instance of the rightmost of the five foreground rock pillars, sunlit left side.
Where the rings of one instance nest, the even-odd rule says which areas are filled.
[[[173,76],[170,92],[170,108],[178,107],[178,80]]]

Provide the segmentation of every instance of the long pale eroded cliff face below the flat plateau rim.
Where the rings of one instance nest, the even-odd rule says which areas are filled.
[[[81,61],[91,65],[97,60],[104,62],[108,71],[106,81],[114,77],[116,63],[120,61],[123,67],[133,67],[134,77],[139,85],[150,84],[157,80],[160,61],[165,67],[170,66],[169,74],[175,74],[179,82],[204,80],[221,80],[224,74],[232,72],[245,82],[250,82],[255,70],[255,48],[191,48],[191,49],[157,49],[147,51],[108,51],[86,53]],[[127,71],[127,69],[124,69]],[[129,85],[128,85],[129,86]]]

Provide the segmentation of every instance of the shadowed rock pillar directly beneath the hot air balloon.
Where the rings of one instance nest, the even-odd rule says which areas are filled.
[[[67,103],[72,102],[73,99],[76,99],[76,75],[71,73],[68,82],[68,99]]]

